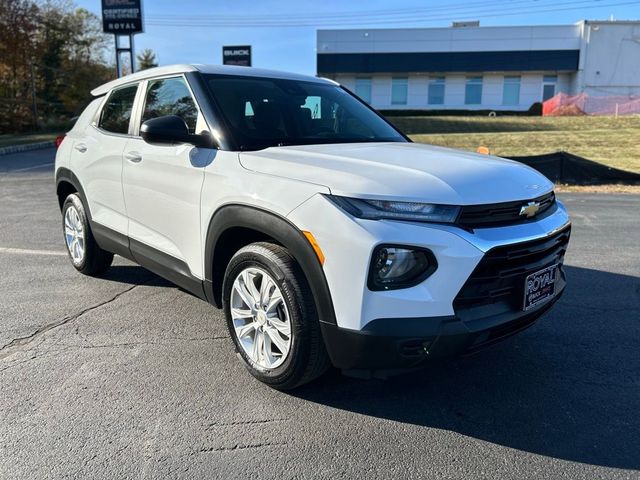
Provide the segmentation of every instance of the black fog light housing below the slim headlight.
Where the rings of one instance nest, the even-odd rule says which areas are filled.
[[[369,290],[409,288],[426,280],[438,268],[431,250],[399,245],[378,245],[371,256]]]

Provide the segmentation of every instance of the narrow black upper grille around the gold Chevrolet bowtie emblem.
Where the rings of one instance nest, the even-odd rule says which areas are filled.
[[[526,218],[520,215],[520,209],[529,202],[539,203],[540,209],[534,217]],[[555,203],[556,197],[553,192],[550,192],[531,200],[494,203],[491,205],[467,205],[460,210],[456,223],[467,228],[482,228],[526,222],[527,220],[535,220],[536,217],[549,210]]]

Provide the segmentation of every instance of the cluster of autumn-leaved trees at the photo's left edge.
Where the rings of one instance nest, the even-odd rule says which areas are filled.
[[[0,133],[78,115],[91,89],[114,77],[108,41],[100,19],[72,0],[0,0]]]

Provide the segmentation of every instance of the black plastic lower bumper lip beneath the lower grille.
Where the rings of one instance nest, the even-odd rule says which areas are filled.
[[[421,366],[430,358],[472,353],[531,326],[560,298],[529,312],[501,315],[493,324],[472,324],[455,316],[384,318],[364,330],[321,323],[333,365],[343,370],[393,371]]]

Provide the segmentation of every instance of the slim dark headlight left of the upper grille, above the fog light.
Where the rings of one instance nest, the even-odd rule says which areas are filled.
[[[354,217],[370,220],[409,220],[417,222],[454,223],[460,207],[434,203],[364,200],[327,195],[333,203]]]

